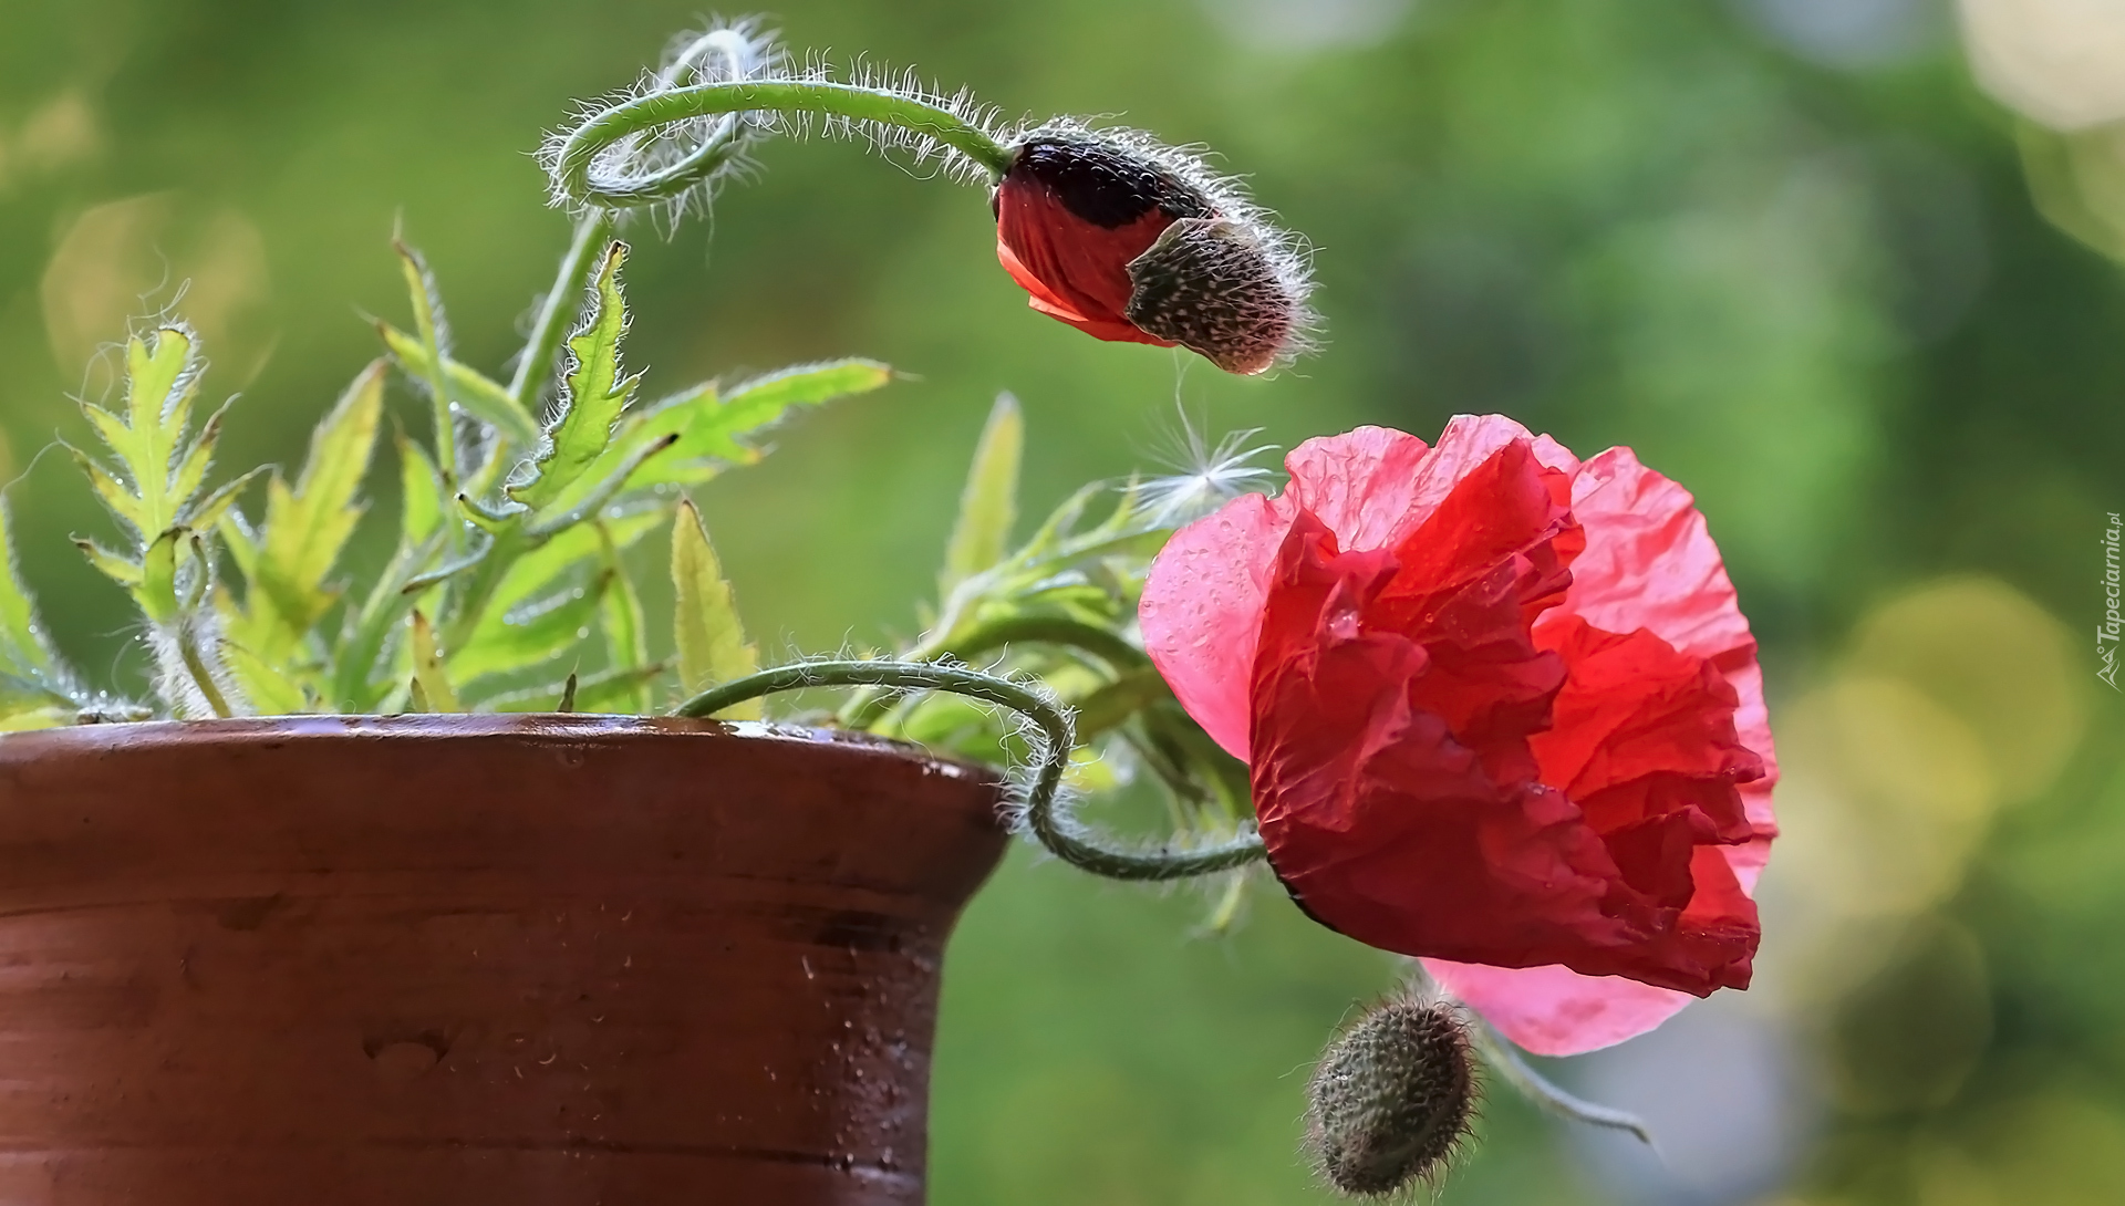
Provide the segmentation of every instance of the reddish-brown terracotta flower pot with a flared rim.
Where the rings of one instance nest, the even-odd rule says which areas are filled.
[[[997,786],[576,716],[0,739],[0,1202],[922,1200]]]

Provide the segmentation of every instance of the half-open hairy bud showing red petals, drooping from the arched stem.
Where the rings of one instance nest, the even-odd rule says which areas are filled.
[[[1290,238],[1201,161],[1130,132],[1052,123],[992,195],[997,259],[1031,306],[1101,340],[1175,344],[1235,374],[1311,323]]]

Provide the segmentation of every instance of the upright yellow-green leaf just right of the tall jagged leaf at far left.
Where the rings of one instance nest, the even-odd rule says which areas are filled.
[[[278,473],[266,484],[266,524],[246,603],[253,614],[270,607],[278,622],[251,631],[257,658],[283,658],[338,601],[325,575],[366,510],[357,493],[370,469],[382,403],[385,365],[374,361],[310,433],[310,454],[295,486]]]

